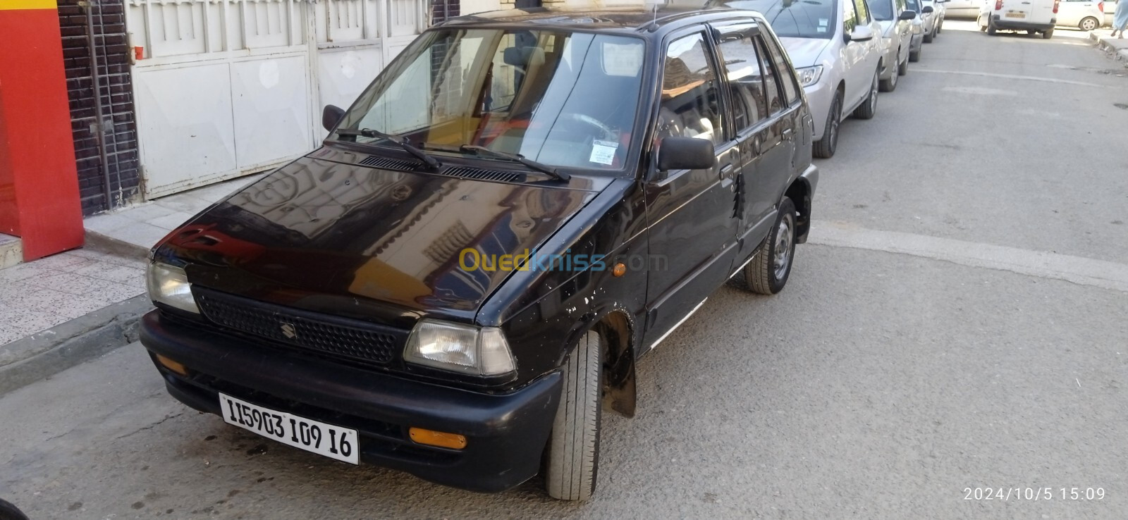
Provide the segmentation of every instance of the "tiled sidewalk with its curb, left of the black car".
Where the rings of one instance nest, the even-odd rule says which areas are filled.
[[[175,227],[265,174],[86,219],[86,246],[29,263],[0,235],[0,394],[136,340],[146,255]],[[12,265],[15,264],[15,265]]]

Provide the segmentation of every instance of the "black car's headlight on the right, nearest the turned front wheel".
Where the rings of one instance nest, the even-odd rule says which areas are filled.
[[[497,376],[517,369],[500,328],[434,319],[415,325],[404,347],[404,361],[474,376]]]

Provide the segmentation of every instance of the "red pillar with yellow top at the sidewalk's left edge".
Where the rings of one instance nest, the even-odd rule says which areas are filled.
[[[55,0],[0,0],[0,232],[25,261],[82,246]]]

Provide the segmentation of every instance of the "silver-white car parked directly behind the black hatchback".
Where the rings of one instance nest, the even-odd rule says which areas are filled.
[[[843,114],[872,118],[884,67],[881,26],[866,0],[731,0],[723,5],[763,12],[799,72],[814,116],[814,157],[838,147]]]

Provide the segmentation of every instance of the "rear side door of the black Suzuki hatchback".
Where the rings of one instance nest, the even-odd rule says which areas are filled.
[[[744,259],[772,229],[796,160],[810,159],[796,158],[795,140],[811,130],[804,126],[800,86],[778,43],[754,23],[716,28],[740,148],[737,258]]]

